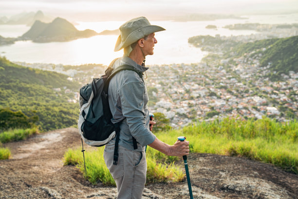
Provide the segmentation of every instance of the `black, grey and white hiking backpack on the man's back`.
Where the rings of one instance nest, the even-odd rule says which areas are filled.
[[[83,140],[86,144],[91,146],[103,146],[116,137],[113,164],[117,165],[120,123],[122,121],[115,124],[111,121],[112,113],[108,100],[109,82],[115,74],[122,70],[134,71],[140,78],[143,77],[143,73],[130,65],[122,65],[113,70],[112,65],[115,60],[111,62],[105,71],[105,75],[100,78],[93,78],[92,82],[81,87],[78,130],[82,139],[83,156]],[[134,138],[133,147],[134,149],[137,148],[136,140]]]

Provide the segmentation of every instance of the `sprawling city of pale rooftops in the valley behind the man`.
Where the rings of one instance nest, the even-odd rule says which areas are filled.
[[[290,71],[289,75],[281,74],[283,81],[270,81],[266,78],[269,66],[260,67],[258,57],[250,58],[252,53],[225,60],[206,57],[196,64],[150,66],[145,80],[150,112],[163,113],[173,128],[183,127],[193,120],[225,117],[260,119],[266,116],[278,121],[297,117],[298,73]],[[16,63],[63,73],[69,76],[68,80],[81,85],[103,75],[107,67],[95,64],[89,70],[65,70],[61,64]],[[78,103],[78,91],[66,87],[54,91],[72,92],[73,98],[68,101]]]

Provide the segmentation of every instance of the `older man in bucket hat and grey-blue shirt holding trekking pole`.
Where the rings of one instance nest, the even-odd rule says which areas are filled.
[[[145,58],[153,55],[153,47],[157,43],[154,33],[165,29],[151,25],[145,17],[129,20],[119,29],[121,35],[114,50],[124,48],[124,56],[114,62],[113,69],[129,64],[136,70],[145,72],[148,69],[145,67]],[[182,157],[188,155],[189,142],[177,140],[170,146],[152,134],[152,125],[155,122],[149,120],[147,88],[143,78],[136,72],[118,72],[110,81],[108,93],[112,122],[122,122],[118,163],[113,164],[115,139],[106,145],[104,159],[117,185],[117,199],[141,199],[147,172],[145,146],[149,145],[169,156]],[[133,139],[136,140],[137,149],[133,147]]]

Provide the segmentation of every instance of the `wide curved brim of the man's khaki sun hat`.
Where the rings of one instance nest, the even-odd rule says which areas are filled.
[[[136,42],[137,40],[142,39],[147,35],[150,35],[151,33],[156,33],[164,30],[166,29],[158,25],[147,25],[130,33],[130,35],[124,41],[121,40],[121,35],[119,35],[116,41],[114,51],[119,51],[122,48],[125,48],[126,46],[129,46],[130,44]]]

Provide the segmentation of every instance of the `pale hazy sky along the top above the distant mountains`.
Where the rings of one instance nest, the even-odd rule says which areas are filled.
[[[298,0],[0,0],[0,17],[21,12],[73,20],[151,19],[187,14],[287,14],[298,13]]]

